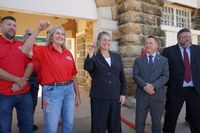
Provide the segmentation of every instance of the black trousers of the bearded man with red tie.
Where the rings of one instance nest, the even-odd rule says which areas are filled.
[[[167,92],[163,133],[175,133],[177,119],[184,102],[186,102],[191,133],[200,133],[200,96],[193,87],[182,89],[179,94]]]

